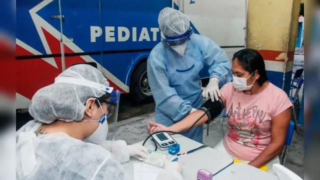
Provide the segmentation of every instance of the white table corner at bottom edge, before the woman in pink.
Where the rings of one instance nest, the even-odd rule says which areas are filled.
[[[265,172],[251,165],[234,163],[214,175],[213,180],[278,180],[274,174]]]

